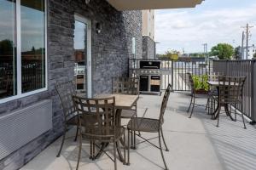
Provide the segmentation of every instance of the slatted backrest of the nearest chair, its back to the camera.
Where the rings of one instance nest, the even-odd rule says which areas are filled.
[[[113,136],[116,127],[114,97],[86,99],[73,96],[73,103],[80,114],[79,122],[83,122],[82,134],[95,137]]]

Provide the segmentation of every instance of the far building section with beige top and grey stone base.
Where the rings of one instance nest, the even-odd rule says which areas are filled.
[[[143,10],[143,59],[154,59],[154,10]]]

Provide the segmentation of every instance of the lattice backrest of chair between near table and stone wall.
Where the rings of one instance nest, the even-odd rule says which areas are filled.
[[[72,81],[57,83],[55,84],[55,89],[61,99],[61,105],[66,121],[69,116],[73,116],[76,112],[72,99],[72,96],[77,94],[74,84]]]

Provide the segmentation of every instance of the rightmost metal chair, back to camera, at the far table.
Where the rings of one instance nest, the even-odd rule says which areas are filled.
[[[246,81],[246,77],[218,77],[218,122],[219,115],[222,106],[232,105],[237,108],[240,105],[241,117],[243,122],[243,127],[246,127],[243,116],[243,87]],[[236,111],[235,111],[235,121],[236,121]]]

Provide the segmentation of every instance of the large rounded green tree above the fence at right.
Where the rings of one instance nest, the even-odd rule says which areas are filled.
[[[234,54],[234,48],[228,43],[218,43],[211,49],[211,56],[217,56],[218,59],[231,59]]]

